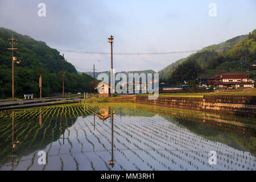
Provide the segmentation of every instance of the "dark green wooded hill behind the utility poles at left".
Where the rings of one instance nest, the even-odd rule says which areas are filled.
[[[12,34],[18,39],[14,44],[14,56],[21,60],[14,64],[15,97],[26,94],[39,96],[39,77],[42,74],[43,97],[51,93],[62,92],[62,56],[56,49],[46,43],[36,41],[30,36],[21,35],[6,28],[0,28],[0,98],[11,97],[11,50],[10,39]],[[76,68],[64,61],[65,92],[92,91],[93,78],[86,73],[77,74]]]

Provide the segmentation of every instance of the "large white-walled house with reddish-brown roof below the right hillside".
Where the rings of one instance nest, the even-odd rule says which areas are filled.
[[[254,88],[254,82],[245,73],[218,73],[216,76],[208,79],[207,85],[214,85],[217,89]]]

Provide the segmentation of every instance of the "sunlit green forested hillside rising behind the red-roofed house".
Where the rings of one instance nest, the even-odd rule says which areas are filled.
[[[241,73],[242,71],[256,79],[255,69],[250,67],[250,63],[255,59],[256,30],[248,35],[237,36],[226,42],[205,47],[185,59],[177,60],[160,71],[160,82],[182,84],[184,80],[197,78],[197,73],[200,71],[204,71],[202,77],[211,77],[219,72]]]

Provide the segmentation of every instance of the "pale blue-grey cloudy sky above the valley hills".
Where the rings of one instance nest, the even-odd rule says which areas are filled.
[[[45,3],[46,16],[39,16]],[[210,3],[216,5],[216,16]],[[110,69],[113,53],[200,50],[245,35],[256,28],[255,0],[1,0],[0,27],[46,42],[59,50],[77,71]],[[81,52],[96,52],[93,54]],[[158,72],[192,52],[164,55],[113,55],[115,72],[152,69]]]

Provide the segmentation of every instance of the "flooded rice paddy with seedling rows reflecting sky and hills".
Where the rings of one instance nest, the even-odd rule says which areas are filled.
[[[0,111],[0,170],[256,169],[254,119],[157,108]],[[42,151],[46,164],[38,162]]]

